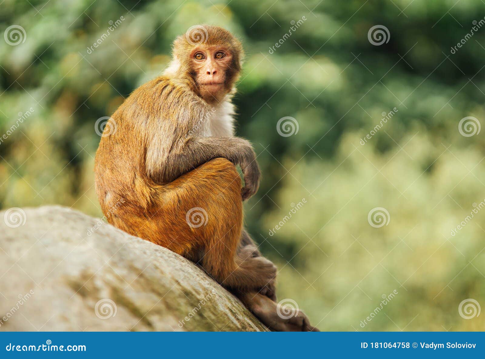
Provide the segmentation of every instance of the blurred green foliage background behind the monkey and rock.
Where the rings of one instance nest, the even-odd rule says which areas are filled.
[[[97,119],[176,35],[220,25],[246,51],[237,135],[263,178],[245,222],[278,300],[321,330],[484,330],[484,17],[476,0],[3,0],[0,205],[102,216]]]

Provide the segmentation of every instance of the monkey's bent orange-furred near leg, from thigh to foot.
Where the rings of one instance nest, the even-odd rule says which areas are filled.
[[[146,212],[131,210],[113,224],[190,259],[201,253],[204,270],[227,288],[259,291],[274,281],[271,261],[252,256],[249,246],[238,250],[241,178],[227,159],[210,160],[166,185],[154,185],[150,202]]]

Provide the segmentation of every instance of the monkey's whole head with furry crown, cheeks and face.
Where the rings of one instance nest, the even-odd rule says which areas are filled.
[[[242,46],[227,30],[195,25],[174,41],[173,61],[166,74],[190,79],[207,103],[221,102],[239,78]]]

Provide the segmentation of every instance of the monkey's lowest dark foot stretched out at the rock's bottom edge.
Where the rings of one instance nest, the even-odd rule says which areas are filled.
[[[301,310],[278,307],[270,298],[256,292],[238,293],[242,303],[274,331],[318,332]]]

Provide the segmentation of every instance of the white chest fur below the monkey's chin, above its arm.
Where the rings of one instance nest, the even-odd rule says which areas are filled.
[[[234,105],[228,101],[213,107],[205,116],[201,126],[202,137],[232,137],[234,135]]]

